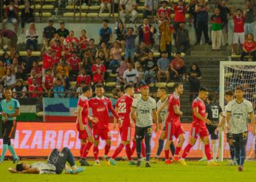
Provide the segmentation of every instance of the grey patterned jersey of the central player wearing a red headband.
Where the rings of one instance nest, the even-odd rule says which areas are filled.
[[[152,110],[157,108],[157,103],[154,98],[148,97],[148,100],[143,100],[142,97],[133,100],[132,107],[136,108],[137,121],[136,126],[148,127],[153,124]]]

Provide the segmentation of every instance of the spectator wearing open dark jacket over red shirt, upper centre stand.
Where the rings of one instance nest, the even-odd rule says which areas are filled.
[[[148,19],[143,20],[143,25],[138,27],[139,31],[139,44],[144,41],[146,47],[151,50],[154,44],[154,33],[157,33],[156,28],[148,23]]]

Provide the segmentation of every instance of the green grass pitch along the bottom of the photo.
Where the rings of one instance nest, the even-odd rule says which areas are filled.
[[[23,161],[32,163],[33,161]],[[38,162],[38,161],[37,161]],[[90,162],[91,164],[93,162]],[[246,161],[244,172],[236,171],[236,166],[226,166],[227,162],[220,162],[222,166],[208,167],[206,162],[187,162],[188,166],[165,165],[164,162],[151,164],[150,168],[145,167],[143,162],[141,167],[129,166],[127,162],[118,162],[117,166],[107,166],[101,162],[101,166],[86,167],[83,173],[78,175],[30,175],[30,174],[11,174],[7,171],[8,167],[14,167],[10,161],[0,164],[1,182],[119,182],[119,181],[206,181],[206,182],[249,182],[256,181],[256,162]]]

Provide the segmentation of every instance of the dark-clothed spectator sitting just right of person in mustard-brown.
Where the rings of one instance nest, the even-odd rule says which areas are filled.
[[[182,49],[182,47],[184,48]],[[187,52],[189,47],[189,31],[185,29],[184,23],[180,23],[178,32],[176,33],[176,48],[178,52]]]

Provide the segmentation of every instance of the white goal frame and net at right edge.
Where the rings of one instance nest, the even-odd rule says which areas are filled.
[[[225,92],[235,90],[236,86],[244,87],[244,98],[252,102],[255,111],[256,106],[256,63],[255,62],[220,62],[219,69],[219,103],[222,108],[225,103]],[[252,132],[249,132],[246,146],[246,156],[254,154],[255,138]],[[226,140],[225,131],[219,133],[219,159],[229,158],[229,145]]]

